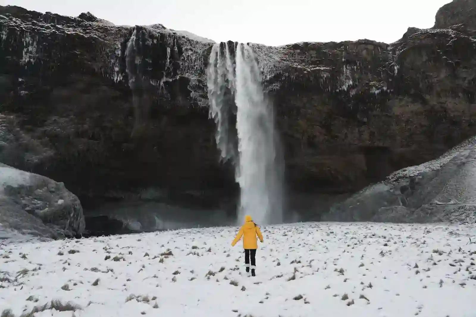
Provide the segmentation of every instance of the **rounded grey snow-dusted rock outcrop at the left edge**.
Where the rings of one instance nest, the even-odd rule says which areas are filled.
[[[0,235],[62,238],[84,229],[79,199],[63,183],[0,163]]]

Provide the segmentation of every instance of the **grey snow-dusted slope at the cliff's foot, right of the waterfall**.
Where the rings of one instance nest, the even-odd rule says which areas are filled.
[[[476,223],[476,137],[392,173],[334,205],[323,220]]]

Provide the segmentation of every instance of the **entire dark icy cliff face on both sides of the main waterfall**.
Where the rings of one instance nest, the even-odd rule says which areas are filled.
[[[353,192],[476,134],[475,7],[453,1],[390,45],[252,45],[289,187]],[[0,40],[0,162],[64,182],[85,207],[146,188],[209,207],[236,190],[208,119],[209,40],[11,6]]]

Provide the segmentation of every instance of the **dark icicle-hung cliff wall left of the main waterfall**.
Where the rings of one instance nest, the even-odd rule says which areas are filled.
[[[234,186],[201,106],[210,44],[161,25],[111,27],[90,14],[0,14],[0,162],[66,183],[86,205],[154,186],[174,195]],[[147,79],[131,92],[133,30],[131,71]]]

